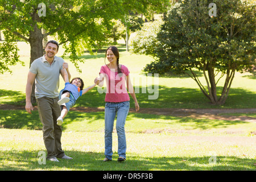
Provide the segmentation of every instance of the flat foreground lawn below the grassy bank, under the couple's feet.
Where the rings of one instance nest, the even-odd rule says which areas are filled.
[[[73,160],[38,163],[42,131],[0,129],[0,170],[255,170],[255,137],[127,133],[127,160],[104,163],[104,133],[64,132],[63,150]],[[216,163],[209,163],[215,156]]]

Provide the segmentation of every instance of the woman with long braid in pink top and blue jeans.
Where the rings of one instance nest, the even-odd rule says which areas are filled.
[[[106,64],[106,57],[109,64]],[[118,136],[118,162],[126,160],[126,137],[125,121],[130,107],[130,97],[135,102],[135,110],[139,110],[139,104],[131,85],[129,69],[119,64],[119,51],[117,47],[110,46],[105,53],[105,65],[101,67],[100,78],[95,78],[94,83],[102,87],[106,78],[107,92],[105,96],[105,159],[104,162],[112,160],[112,132],[115,115],[117,115],[116,130]]]

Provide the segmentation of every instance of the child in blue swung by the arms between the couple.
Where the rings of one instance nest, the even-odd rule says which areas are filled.
[[[90,89],[94,88],[97,84],[93,84],[88,88],[84,89],[84,82],[81,78],[76,77],[65,82],[65,88],[60,90],[58,104],[61,108],[60,117],[57,118],[57,125],[62,125],[63,118],[68,114],[69,109],[76,104],[77,98],[88,92]]]

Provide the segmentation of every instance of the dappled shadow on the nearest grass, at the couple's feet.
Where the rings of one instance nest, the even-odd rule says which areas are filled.
[[[117,162],[114,153],[111,162],[102,162],[103,152],[65,151],[72,160],[59,159],[59,163],[46,161],[39,164],[39,151],[0,151],[0,171],[2,170],[88,170],[88,171],[149,171],[149,170],[188,170],[188,171],[253,171],[255,159],[237,156],[217,156],[216,164],[210,164],[211,156],[193,157],[143,157],[127,154],[127,160]],[[41,156],[41,155],[40,155]]]

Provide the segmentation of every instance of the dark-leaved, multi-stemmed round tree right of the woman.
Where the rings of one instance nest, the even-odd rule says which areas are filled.
[[[214,3],[216,16],[207,0],[176,3],[158,34],[159,44],[152,53],[156,61],[144,71],[186,73],[212,104],[222,105],[235,72],[255,64],[255,5],[241,0]],[[206,86],[195,70],[203,72]],[[217,83],[224,76],[218,97]]]

